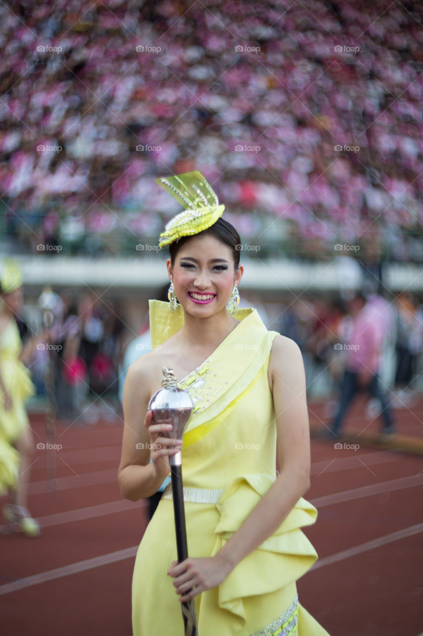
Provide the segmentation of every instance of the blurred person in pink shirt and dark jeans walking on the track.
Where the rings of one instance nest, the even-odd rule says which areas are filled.
[[[372,303],[358,293],[349,301],[351,331],[344,345],[346,349],[344,377],[340,387],[338,411],[330,426],[330,436],[339,436],[342,422],[352,399],[358,391],[370,393],[381,404],[380,416],[384,422],[384,433],[394,432],[391,410],[379,383],[380,356],[386,333],[384,317],[375,312]]]

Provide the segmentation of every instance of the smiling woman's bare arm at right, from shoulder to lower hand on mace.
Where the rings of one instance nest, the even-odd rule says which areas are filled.
[[[209,563],[202,567],[198,563],[201,559],[187,559],[171,567],[171,576],[178,576],[173,584],[177,593],[182,594],[181,601],[221,583],[245,556],[278,529],[310,487],[309,420],[304,364],[298,345],[290,338],[276,336],[269,365],[273,378],[279,476],[229,541],[210,559],[203,560]],[[184,567],[184,563],[190,561],[192,570]],[[184,594],[194,585],[195,590]]]

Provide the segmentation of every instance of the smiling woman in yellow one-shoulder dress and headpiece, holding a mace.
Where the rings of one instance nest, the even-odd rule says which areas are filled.
[[[119,484],[132,501],[153,494],[182,444],[190,556],[177,563],[167,487],[137,553],[133,635],[182,634],[180,602],[194,599],[201,636],[327,636],[296,587],[317,558],[300,529],[317,516],[303,499],[310,448],[300,350],[255,309],[238,309],[238,232],[220,218],[224,206],[204,177],[161,181],[186,211],[161,235],[171,302],[150,301],[154,349],[128,371]],[[194,404],[182,443],[147,411],[163,366]]]

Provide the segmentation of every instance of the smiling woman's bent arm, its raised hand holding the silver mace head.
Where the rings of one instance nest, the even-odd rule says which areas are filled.
[[[130,501],[157,492],[170,473],[169,455],[180,450],[170,446],[182,445],[180,440],[160,437],[166,424],[151,423],[152,413],[148,411],[151,363],[147,355],[131,364],[123,388],[124,429],[117,480],[121,493]]]

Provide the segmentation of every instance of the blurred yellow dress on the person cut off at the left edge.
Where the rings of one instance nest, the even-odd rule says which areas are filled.
[[[25,402],[35,392],[29,371],[19,359],[21,349],[18,326],[11,320],[0,335],[0,373],[12,399],[12,408],[6,411],[0,392],[0,494],[17,483],[20,455],[11,444],[29,425]]]

